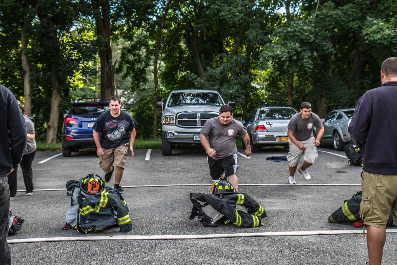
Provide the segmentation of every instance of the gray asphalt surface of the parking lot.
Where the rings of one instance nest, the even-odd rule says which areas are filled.
[[[247,234],[296,231],[362,231],[351,225],[333,224],[327,217],[342,202],[361,190],[360,167],[353,167],[343,152],[319,148],[317,162],[309,168],[312,180],[298,173],[298,185],[287,185],[288,163],[266,160],[286,155],[284,149],[264,149],[251,159],[239,156],[237,172],[240,192],[249,194],[267,212],[263,226],[239,228],[219,225],[204,228],[189,220],[192,208],[189,193],[209,192],[209,169],[202,149],[175,150],[164,157],[161,150],[135,150],[127,158],[121,185],[132,218],[133,232],[127,236]],[[239,150],[242,152],[242,150]],[[59,152],[37,152],[33,161],[35,191],[23,191],[11,198],[11,211],[25,219],[22,230],[8,239],[69,238],[76,241],[13,243],[12,264],[365,264],[366,241],[363,234],[257,236],[181,240],[97,240],[79,241],[87,236],[125,236],[117,228],[81,235],[62,230],[70,197],[66,181],[97,172],[95,151],[54,157]],[[340,156],[341,155],[341,156]],[[23,180],[18,170],[18,190]],[[113,185],[113,178],[110,182]],[[175,185],[154,187],[155,185]],[[192,186],[180,186],[192,184]],[[194,185],[197,184],[197,185]],[[248,186],[244,184],[258,184]],[[301,186],[318,184],[319,186]],[[348,184],[348,185],[346,185]],[[151,187],[141,187],[150,185]],[[267,185],[267,186],[260,186]],[[322,186],[327,185],[327,186]],[[132,186],[132,187],[129,187]],[[42,191],[40,191],[42,190]],[[240,235],[241,236],[241,235]],[[136,239],[136,238],[135,238]],[[383,264],[397,264],[396,234],[387,234]]]

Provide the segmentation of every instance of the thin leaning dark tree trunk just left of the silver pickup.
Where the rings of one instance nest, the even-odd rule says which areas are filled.
[[[154,139],[157,139],[157,107],[156,107],[156,103],[158,101],[158,56],[160,53],[161,36],[163,33],[165,18],[167,17],[168,8],[169,8],[170,4],[171,4],[171,0],[168,0],[167,5],[165,6],[165,9],[164,9],[163,17],[161,18],[160,28],[158,30],[158,36],[157,36],[156,53],[154,54],[154,64],[153,64],[153,73],[154,73],[153,138]]]

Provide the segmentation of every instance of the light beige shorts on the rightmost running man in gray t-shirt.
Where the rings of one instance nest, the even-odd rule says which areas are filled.
[[[314,146],[314,137],[307,139],[306,141],[299,141],[300,144],[306,146],[305,150],[301,150],[296,146],[293,142],[288,140],[289,143],[289,152],[287,155],[287,160],[290,167],[294,167],[298,165],[301,156],[303,156],[303,160],[307,161],[310,164],[314,164],[317,159],[317,148]]]

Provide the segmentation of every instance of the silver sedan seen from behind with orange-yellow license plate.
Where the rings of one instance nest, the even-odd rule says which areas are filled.
[[[265,145],[288,147],[287,126],[295,113],[296,110],[290,107],[261,107],[251,112],[245,123],[251,150],[258,152]]]

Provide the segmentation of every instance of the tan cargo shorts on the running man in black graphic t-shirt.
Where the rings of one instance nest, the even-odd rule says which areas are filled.
[[[126,163],[126,155],[128,151],[128,143],[120,145],[113,149],[103,149],[103,155],[99,160],[99,166],[104,172],[112,171],[112,165],[124,168]]]

